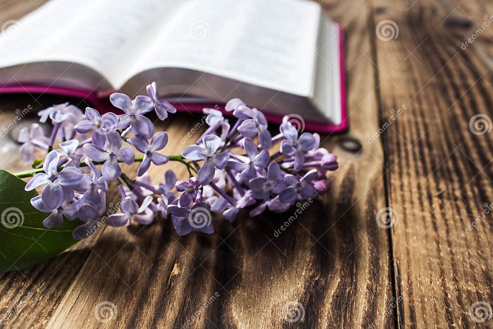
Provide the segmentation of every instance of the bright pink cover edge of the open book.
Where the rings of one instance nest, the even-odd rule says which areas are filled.
[[[345,65],[344,65],[344,34],[343,29],[339,25],[339,72],[340,72],[340,97],[341,97],[341,123],[334,125],[330,122],[318,122],[318,121],[305,121],[305,130],[331,134],[342,132],[347,129],[347,110],[346,110],[346,92],[345,92]],[[113,92],[113,91],[111,91]],[[81,98],[82,100],[90,103],[99,112],[114,111],[118,113],[120,110],[114,108],[109,102],[109,95],[111,92],[97,92],[91,90],[74,89],[68,87],[46,86],[37,84],[6,84],[0,87],[0,93],[35,93],[35,94],[56,94],[69,97]],[[210,103],[181,103],[176,102],[173,104],[178,111],[202,113],[202,110],[206,107],[214,106]],[[216,107],[217,108],[217,107]],[[219,107],[219,110],[225,115],[231,116],[231,112],[226,112],[224,104]],[[270,114],[268,109],[264,111],[265,117],[268,122],[273,124],[280,124],[282,122],[282,116]]]

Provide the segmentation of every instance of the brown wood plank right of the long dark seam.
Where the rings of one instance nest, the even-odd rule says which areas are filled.
[[[492,116],[485,52],[492,27],[462,46],[492,13],[491,1],[479,2],[375,1],[383,8],[375,25],[387,19],[399,29],[395,39],[376,39],[376,65],[405,327],[471,327],[482,318],[470,308],[493,305],[492,217],[484,206],[493,201],[492,134],[470,129],[474,115]],[[490,309],[484,319],[491,316]]]

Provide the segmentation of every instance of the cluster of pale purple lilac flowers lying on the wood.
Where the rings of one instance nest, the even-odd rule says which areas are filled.
[[[155,82],[147,91],[148,96],[133,100],[113,93],[110,101],[122,115],[100,114],[90,107],[82,113],[65,103],[39,112],[41,122],[50,119],[53,123],[48,136],[38,124],[21,131],[21,159],[35,167],[25,189],[43,186],[31,203],[49,214],[45,227],[61,226],[64,217],[79,218],[83,225],[73,236],[83,239],[104,223],[147,225],[169,214],[180,236],[192,231],[211,234],[212,213],[233,221],[244,208],[249,208],[250,216],[267,209],[283,212],[297,200],[327,190],[326,173],[337,168],[337,159],[320,147],[320,136],[300,134],[288,117],[280,133],[272,136],[263,113],[238,98],[226,104],[226,111],[236,118],[234,124],[220,111],[204,109],[209,128],[197,143],[181,155],[164,155],[168,135],[155,133],[145,114],[154,110],[164,120],[176,109],[159,97]],[[280,145],[279,151],[270,154],[275,145]],[[35,160],[36,150],[47,153],[44,160]],[[178,180],[168,170],[164,180],[153,185],[146,173],[150,165],[169,161],[185,165],[190,177]],[[121,167],[134,162],[140,162],[136,179]],[[111,183],[121,196],[120,211],[108,211],[111,214],[105,217]]]

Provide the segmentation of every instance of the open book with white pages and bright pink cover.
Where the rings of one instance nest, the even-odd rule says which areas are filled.
[[[108,91],[146,94],[156,81],[178,110],[238,97],[271,122],[295,114],[306,129],[340,131],[341,40],[309,0],[50,0],[0,35],[0,92],[97,107]]]

